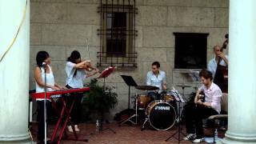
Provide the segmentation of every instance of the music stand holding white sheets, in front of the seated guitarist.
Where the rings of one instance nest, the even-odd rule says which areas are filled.
[[[180,141],[182,141],[180,136],[181,136],[181,134],[183,134],[182,131],[181,131],[181,126],[180,126],[181,125],[181,122],[180,122],[181,121],[181,109],[180,109],[180,106],[181,106],[181,103],[185,103],[185,101],[182,98],[182,95],[179,94],[178,90],[175,90],[174,87],[173,87],[173,90],[171,90],[171,92],[174,94],[174,98],[175,98],[176,102],[178,102],[178,114],[179,114],[179,116],[178,116],[178,130],[176,130],[176,132],[174,134],[170,135],[170,137],[166,139],[166,142],[170,138],[174,137],[174,135],[178,134],[178,138],[176,138],[176,139],[178,140],[178,144],[179,144]],[[185,136],[185,134],[183,134],[183,135]]]

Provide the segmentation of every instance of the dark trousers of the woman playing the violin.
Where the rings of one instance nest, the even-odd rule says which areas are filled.
[[[66,86],[66,88],[70,89],[72,87]],[[70,113],[71,120],[74,125],[78,125],[78,123],[81,122],[82,96],[83,96],[82,93],[74,93],[74,94],[70,94],[70,96],[67,97],[66,106],[70,107],[72,102],[74,102],[73,108]],[[69,123],[69,125],[70,125],[70,123]]]

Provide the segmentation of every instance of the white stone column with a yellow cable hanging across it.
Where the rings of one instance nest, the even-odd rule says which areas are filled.
[[[24,11],[26,17],[22,22]],[[28,132],[29,0],[27,5],[26,0],[0,0],[0,31],[0,58],[14,40],[0,62],[0,143],[31,143]]]

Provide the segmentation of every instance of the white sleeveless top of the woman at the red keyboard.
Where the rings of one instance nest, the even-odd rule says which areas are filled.
[[[54,86],[54,74],[53,71],[51,70],[51,67],[49,65],[46,65],[49,67],[49,73],[46,73],[46,85],[51,85]],[[43,69],[43,67],[40,67],[41,69],[41,78],[42,78],[42,82],[45,82],[45,70]],[[45,92],[45,88],[43,86],[39,86],[37,82],[35,82],[35,91],[36,93],[42,93]],[[46,88],[46,91],[54,91],[51,88]],[[43,98],[37,98],[37,101],[42,101],[44,100]]]

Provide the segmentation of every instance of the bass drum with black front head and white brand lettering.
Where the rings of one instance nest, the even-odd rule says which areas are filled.
[[[174,106],[168,102],[154,101],[146,108],[150,126],[155,130],[169,130],[176,121]]]

